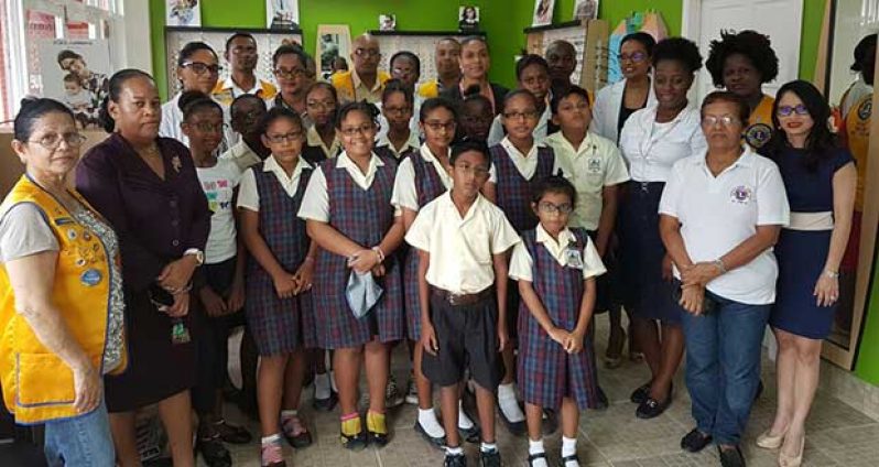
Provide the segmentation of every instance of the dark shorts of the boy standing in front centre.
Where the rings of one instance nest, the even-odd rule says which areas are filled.
[[[431,289],[431,322],[440,347],[436,356],[424,352],[421,370],[434,384],[455,385],[470,370],[480,387],[496,391],[503,378],[498,354],[498,305],[493,287],[480,292],[475,303],[453,306]]]

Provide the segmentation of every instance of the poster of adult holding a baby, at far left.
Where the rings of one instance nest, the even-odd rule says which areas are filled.
[[[43,96],[67,105],[80,128],[99,128],[98,110],[111,74],[108,41],[45,40],[39,51]]]

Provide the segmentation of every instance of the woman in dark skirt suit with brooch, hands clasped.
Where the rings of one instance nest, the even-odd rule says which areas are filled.
[[[192,339],[198,333],[189,318],[189,291],[205,259],[210,211],[189,151],[159,137],[161,118],[153,78],[139,69],[117,72],[101,110],[111,134],[76,170],[76,188],[120,241],[130,365],[124,373],[106,377],[105,384],[123,467],[140,465],[134,412],[154,403],[174,465],[195,464],[189,388],[196,381]]]

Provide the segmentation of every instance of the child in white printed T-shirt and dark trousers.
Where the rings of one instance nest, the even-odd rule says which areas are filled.
[[[181,131],[189,142],[198,182],[207,197],[210,232],[205,247],[204,281],[196,291],[200,333],[193,408],[198,414],[196,449],[208,466],[227,466],[231,456],[223,442],[246,444],[250,433],[223,419],[223,384],[226,382],[228,327],[231,315],[245,302],[243,261],[238,251],[232,198],[240,172],[234,162],[216,158],[223,140],[223,108],[199,91],[184,91],[178,104],[183,113]]]

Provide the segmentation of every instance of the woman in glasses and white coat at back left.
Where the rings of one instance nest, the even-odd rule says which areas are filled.
[[[171,100],[162,105],[160,137],[173,138],[189,146],[189,138],[181,130],[183,111],[180,109],[180,97],[187,90],[197,90],[210,96],[221,69],[218,63],[217,53],[204,42],[189,42],[183,46],[177,57],[177,79],[181,89]],[[219,153],[226,151],[228,149],[226,146],[227,144],[220,143]]]

